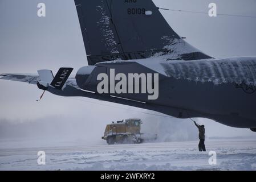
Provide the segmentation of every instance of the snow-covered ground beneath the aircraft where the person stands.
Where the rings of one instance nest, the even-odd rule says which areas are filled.
[[[120,144],[58,143],[23,146],[0,141],[0,170],[256,170],[256,140],[206,140],[216,151],[217,165],[208,152],[198,152],[198,142]],[[12,144],[10,144],[12,143]],[[37,163],[38,151],[46,152],[46,165]]]

